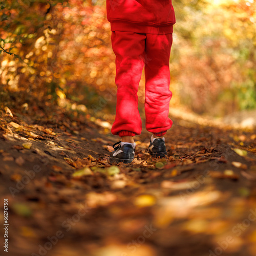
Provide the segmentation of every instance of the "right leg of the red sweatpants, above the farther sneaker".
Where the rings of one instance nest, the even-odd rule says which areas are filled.
[[[147,34],[145,45],[145,114],[148,132],[162,136],[172,126],[168,118],[169,102],[169,58],[172,34]]]

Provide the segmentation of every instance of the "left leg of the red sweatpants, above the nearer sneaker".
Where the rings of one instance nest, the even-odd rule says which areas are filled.
[[[145,34],[112,32],[112,47],[116,55],[117,104],[111,132],[120,137],[141,133],[137,92],[144,66],[145,38]]]

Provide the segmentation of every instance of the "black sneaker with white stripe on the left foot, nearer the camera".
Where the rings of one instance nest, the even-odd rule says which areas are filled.
[[[113,147],[115,151],[110,154],[110,163],[131,163],[133,161],[135,148],[131,144],[121,146],[121,141],[119,141]]]

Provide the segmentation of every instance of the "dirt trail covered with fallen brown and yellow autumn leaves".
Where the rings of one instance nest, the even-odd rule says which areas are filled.
[[[176,119],[168,158],[143,131],[133,163],[111,166],[106,123],[1,120],[6,255],[256,255],[256,131]]]

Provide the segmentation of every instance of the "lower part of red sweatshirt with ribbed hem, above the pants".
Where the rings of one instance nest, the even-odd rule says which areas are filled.
[[[106,0],[111,31],[147,34],[173,33],[172,0]]]

